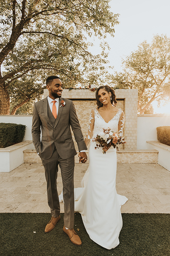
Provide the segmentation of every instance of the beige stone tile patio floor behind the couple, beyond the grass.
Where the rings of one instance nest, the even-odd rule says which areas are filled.
[[[75,187],[80,187],[87,167],[75,164]],[[57,182],[60,194],[60,171]],[[170,172],[158,164],[118,164],[117,192],[129,198],[122,213],[170,213]],[[11,172],[0,172],[0,212],[50,212],[42,164],[22,164]]]

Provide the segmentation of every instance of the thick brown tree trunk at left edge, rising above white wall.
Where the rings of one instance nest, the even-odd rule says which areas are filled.
[[[4,83],[0,83],[0,114],[10,114],[10,97]]]

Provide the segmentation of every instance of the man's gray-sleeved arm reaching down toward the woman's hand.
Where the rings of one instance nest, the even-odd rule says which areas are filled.
[[[87,147],[84,142],[83,133],[81,131],[80,123],[79,123],[73,102],[71,103],[71,106],[70,106],[69,121],[73,130],[74,138],[75,138],[75,141],[77,142],[79,151],[86,150]]]

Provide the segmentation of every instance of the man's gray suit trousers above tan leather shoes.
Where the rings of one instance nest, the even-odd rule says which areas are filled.
[[[57,192],[58,164],[61,169],[64,200],[64,225],[74,227],[74,156],[62,159],[55,149],[50,159],[41,158],[47,182],[47,198],[52,217],[60,215],[60,202]]]

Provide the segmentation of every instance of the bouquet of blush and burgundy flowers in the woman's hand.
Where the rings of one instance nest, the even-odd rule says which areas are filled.
[[[118,145],[126,143],[124,137],[123,138],[121,136],[118,137],[118,134],[115,132],[111,132],[110,128],[103,129],[103,134],[102,135],[97,134],[96,138],[93,138],[92,141],[97,142],[95,149],[103,148],[103,152],[102,152],[103,154],[106,154],[106,151],[111,146],[119,150]]]

